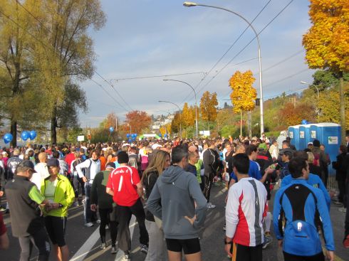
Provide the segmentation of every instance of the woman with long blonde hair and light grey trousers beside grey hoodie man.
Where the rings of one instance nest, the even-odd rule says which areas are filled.
[[[157,150],[152,156],[152,160],[142,175],[142,185],[145,188],[145,196],[149,198],[152,188],[155,186],[157,178],[162,171],[171,164],[170,154],[167,151]],[[164,233],[155,223],[155,218],[150,211],[145,213],[145,227],[149,234],[149,248],[145,261],[165,260]]]

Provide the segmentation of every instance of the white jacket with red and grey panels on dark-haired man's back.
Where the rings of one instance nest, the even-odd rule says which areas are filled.
[[[263,183],[251,177],[240,179],[228,192],[226,236],[239,245],[261,245],[264,242],[262,223],[267,211]]]

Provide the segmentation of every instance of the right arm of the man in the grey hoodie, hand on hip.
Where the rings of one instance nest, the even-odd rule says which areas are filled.
[[[197,183],[197,179],[195,176],[189,176],[188,185],[189,194],[195,202],[195,218],[192,225],[194,228],[201,228],[204,225],[204,221],[206,219],[207,200],[204,197],[204,194],[202,193],[199,183]]]

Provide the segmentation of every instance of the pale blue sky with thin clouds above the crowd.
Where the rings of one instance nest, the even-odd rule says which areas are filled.
[[[269,2],[252,23],[259,32],[290,1],[217,0],[197,3],[221,6],[252,21]],[[182,6],[183,1],[178,0],[101,2],[107,22],[100,31],[90,31],[95,43],[95,68],[103,78],[111,80],[116,91],[96,74],[93,80],[108,94],[91,80],[80,83],[89,106],[88,113],[80,114],[82,127],[98,126],[110,112],[115,112],[123,120],[131,109],[148,114],[167,114],[177,110],[175,105],[158,100],[174,102],[179,107],[184,102],[194,104],[194,93],[187,85],[162,81],[165,78],[192,85],[197,90],[198,103],[204,91],[217,92],[219,104],[223,105],[229,103],[231,75],[236,70],[251,70],[259,97],[256,40],[236,55],[254,38],[251,28],[213,68],[247,26],[238,16],[202,6],[187,8]],[[313,70],[307,68],[301,44],[303,34],[311,26],[308,4],[308,1],[292,1],[259,35],[264,100],[283,91],[299,91],[306,87],[300,81],[312,82]],[[149,78],[158,75],[176,76]],[[140,77],[146,78],[121,80]]]

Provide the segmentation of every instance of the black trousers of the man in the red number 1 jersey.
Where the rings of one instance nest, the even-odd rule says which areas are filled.
[[[121,250],[131,250],[131,236],[130,236],[130,220],[131,216],[135,215],[138,226],[140,228],[140,244],[148,245],[149,235],[147,228],[145,228],[145,212],[140,201],[140,198],[133,206],[116,206],[116,215],[118,217],[118,245]]]

